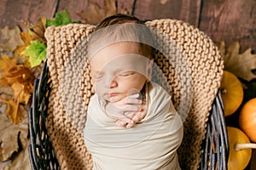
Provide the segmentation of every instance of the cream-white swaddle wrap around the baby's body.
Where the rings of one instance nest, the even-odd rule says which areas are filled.
[[[180,169],[177,148],[183,122],[170,94],[154,82],[146,85],[147,115],[134,127],[118,127],[95,94],[90,99],[84,140],[95,170]]]

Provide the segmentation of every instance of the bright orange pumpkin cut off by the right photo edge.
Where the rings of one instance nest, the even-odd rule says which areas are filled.
[[[256,98],[242,106],[239,114],[239,126],[249,139],[256,142]]]

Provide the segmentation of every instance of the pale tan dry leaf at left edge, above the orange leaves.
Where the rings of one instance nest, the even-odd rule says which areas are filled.
[[[0,43],[0,51],[14,51],[17,46],[22,45],[23,42],[20,38],[20,28],[15,26],[13,29],[9,29],[5,26],[0,29],[2,34],[3,43]]]

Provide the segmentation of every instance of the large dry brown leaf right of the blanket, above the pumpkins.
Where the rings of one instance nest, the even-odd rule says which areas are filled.
[[[220,42],[218,46],[221,54],[224,56],[224,70],[230,71],[236,77],[240,77],[248,82],[256,78],[256,75],[253,74],[253,70],[256,69],[256,54],[252,54],[251,48],[247,48],[245,52],[239,54],[239,42],[234,42],[225,54],[224,42]]]

